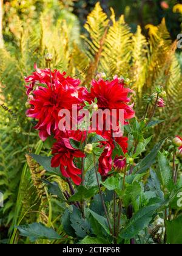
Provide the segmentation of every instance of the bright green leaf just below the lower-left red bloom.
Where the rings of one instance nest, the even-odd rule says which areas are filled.
[[[69,198],[69,202],[83,201],[88,199],[98,193],[98,186],[92,188],[86,188],[84,186],[79,186],[78,191]]]

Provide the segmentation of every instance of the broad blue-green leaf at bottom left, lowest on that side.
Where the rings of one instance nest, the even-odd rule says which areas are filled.
[[[41,223],[32,223],[24,226],[16,226],[21,236],[27,236],[30,241],[35,242],[38,239],[57,240],[62,236],[58,235],[55,230],[45,227]]]

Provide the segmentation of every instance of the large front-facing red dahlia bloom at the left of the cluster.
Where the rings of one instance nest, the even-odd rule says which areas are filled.
[[[44,141],[51,133],[58,132],[61,109],[70,110],[72,105],[80,104],[78,93],[75,89],[65,90],[61,85],[51,87],[38,87],[33,91],[32,107],[27,110],[27,116],[38,119],[35,129],[39,130],[39,137]]]

